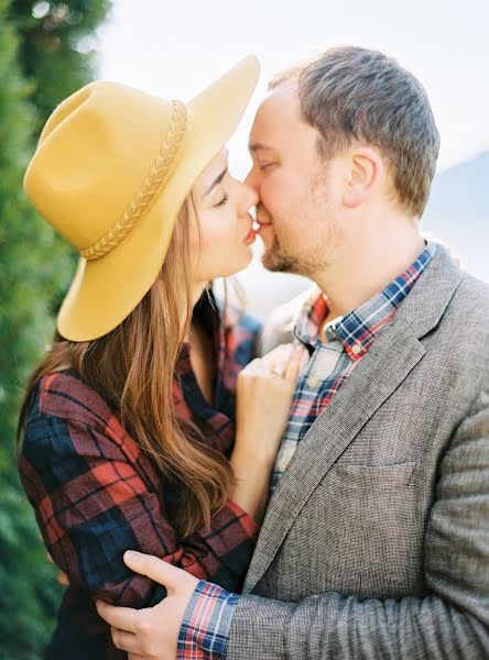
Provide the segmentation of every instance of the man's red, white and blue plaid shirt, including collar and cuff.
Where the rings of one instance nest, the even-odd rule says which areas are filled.
[[[436,245],[430,243],[416,261],[380,294],[329,324],[328,339],[343,345],[334,360],[333,370],[324,374],[323,380],[314,377],[314,381],[311,381],[311,367],[320,352],[327,350],[327,344],[323,344],[318,337],[320,323],[328,314],[327,301],[316,289],[305,302],[294,334],[308,348],[312,359],[297,380],[289,425],[272,474],[272,492],[297,443],[332,402],[341,384],[352,373],[355,365],[367,354],[376,337],[426,268],[435,249]],[[225,588],[200,580],[184,615],[178,636],[177,660],[224,660],[232,615],[239,598],[240,596]]]

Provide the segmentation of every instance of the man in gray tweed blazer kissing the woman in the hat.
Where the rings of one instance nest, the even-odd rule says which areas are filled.
[[[420,234],[438,143],[378,52],[272,82],[248,176],[263,263],[317,288],[264,339],[294,328],[311,360],[242,595],[128,553],[169,590],[98,604],[130,658],[489,656],[489,287]]]

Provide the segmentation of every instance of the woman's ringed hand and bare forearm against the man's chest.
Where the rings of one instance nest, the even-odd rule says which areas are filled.
[[[267,506],[270,472],[304,356],[302,344],[283,344],[250,362],[238,376],[237,433],[231,455],[237,486],[232,499],[258,521]]]

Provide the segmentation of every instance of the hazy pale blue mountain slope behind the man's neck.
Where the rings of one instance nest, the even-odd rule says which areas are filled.
[[[435,177],[422,219],[461,266],[489,282],[489,152]]]

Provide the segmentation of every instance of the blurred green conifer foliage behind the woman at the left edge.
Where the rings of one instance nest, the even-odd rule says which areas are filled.
[[[93,78],[88,38],[107,10],[106,0],[0,0],[0,660],[42,658],[62,595],[13,441],[76,257],[32,209],[22,179],[47,116]]]

